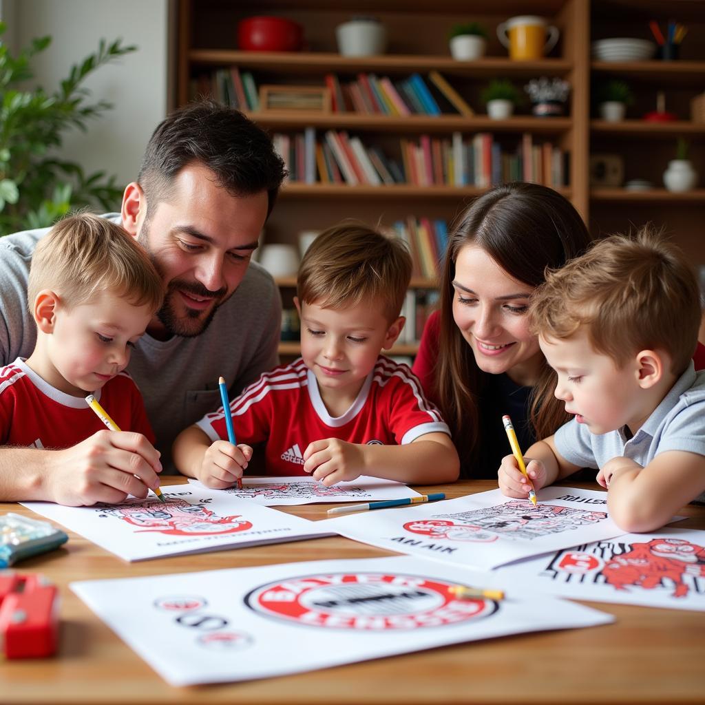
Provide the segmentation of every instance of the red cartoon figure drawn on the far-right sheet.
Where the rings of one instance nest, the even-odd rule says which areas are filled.
[[[705,577],[705,548],[684,539],[651,539],[632,544],[631,550],[609,560],[602,570],[605,580],[617,590],[635,585],[653,590],[663,578],[675,584],[673,597],[685,597],[688,587],[683,575]]]

